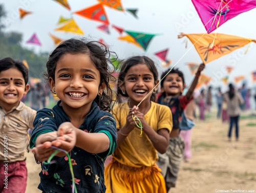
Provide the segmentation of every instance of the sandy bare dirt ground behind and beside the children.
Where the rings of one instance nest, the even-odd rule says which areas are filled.
[[[217,119],[214,109],[205,121],[196,120],[193,157],[182,162],[177,187],[169,192],[256,192],[256,115],[252,114],[242,113],[239,141],[233,129],[231,142],[227,140],[228,123]],[[31,153],[27,154],[27,167],[26,193],[41,192],[37,189],[40,165]]]

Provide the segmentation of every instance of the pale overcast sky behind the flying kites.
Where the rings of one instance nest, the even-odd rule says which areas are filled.
[[[111,34],[106,34],[97,29],[102,23],[72,14],[74,11],[96,5],[98,3],[96,0],[69,0],[68,2],[71,11],[52,0],[0,0],[0,4],[3,4],[7,11],[7,18],[5,19],[6,31],[22,33],[23,46],[26,48],[34,49],[36,52],[51,52],[54,49],[54,43],[49,33],[62,39],[77,36],[72,33],[54,31],[57,28],[60,16],[66,18],[73,16],[78,26],[85,33],[84,36],[91,36],[94,40],[103,38],[106,44],[110,45],[111,49],[122,59],[134,55],[151,57],[158,65],[159,74],[167,70],[167,68],[161,66],[161,60],[155,56],[155,53],[169,49],[167,59],[172,60],[173,65],[178,62],[176,67],[184,72],[186,83],[189,84],[191,82],[193,76],[185,63],[200,63],[201,59],[189,40],[187,48],[185,48],[185,37],[178,39],[177,36],[180,32],[187,34],[206,33],[191,0],[123,0],[124,9],[138,9],[138,19],[127,11],[121,12],[104,6],[110,21],[109,29]],[[18,8],[23,8],[33,13],[23,19],[19,19]],[[228,20],[214,32],[256,39],[256,25],[253,21],[255,18],[256,9],[252,9]],[[253,22],[250,22],[250,20]],[[159,35],[152,39],[147,50],[144,51],[129,42],[118,40],[120,34],[111,25],[121,27],[124,30]],[[41,47],[26,44],[26,41],[33,33],[37,34],[42,43]],[[252,42],[248,52],[244,55],[247,48],[248,45],[207,63],[204,73],[212,77],[211,84],[213,87],[222,85],[225,88],[225,85],[220,81],[222,77],[228,75],[223,70],[224,66],[234,67],[234,70],[229,75],[230,82],[233,82],[233,77],[244,75],[248,77],[248,86],[255,86],[251,81],[250,73],[256,70],[256,45]]]

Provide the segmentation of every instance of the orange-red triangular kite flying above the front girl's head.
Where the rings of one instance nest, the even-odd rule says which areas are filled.
[[[97,4],[97,5],[82,9],[80,11],[76,11],[74,13],[92,20],[103,22],[104,24],[109,24],[108,17],[106,16],[106,13],[102,4]]]

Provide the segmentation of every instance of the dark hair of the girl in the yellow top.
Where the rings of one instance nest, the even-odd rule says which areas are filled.
[[[118,83],[117,83],[117,95],[120,98],[121,96],[124,97],[129,97],[127,95],[126,92],[122,92],[123,85],[124,85],[124,77],[127,73],[127,71],[135,66],[135,65],[139,65],[139,64],[145,64],[148,69],[150,69],[150,71],[153,73],[154,76],[154,81],[156,82],[158,80],[158,72],[157,72],[157,68],[155,66],[155,63],[152,59],[148,58],[147,56],[133,56],[130,57],[128,59],[126,59],[122,64],[121,64],[121,69],[120,69],[120,73],[118,75]],[[155,94],[153,93],[151,95],[151,100],[155,101]]]

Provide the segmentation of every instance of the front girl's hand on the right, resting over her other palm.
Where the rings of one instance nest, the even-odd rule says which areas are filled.
[[[64,149],[70,152],[76,144],[76,127],[71,122],[64,122],[59,125],[57,131],[57,140],[52,142],[53,146]],[[57,156],[65,156],[65,153],[59,153]]]

